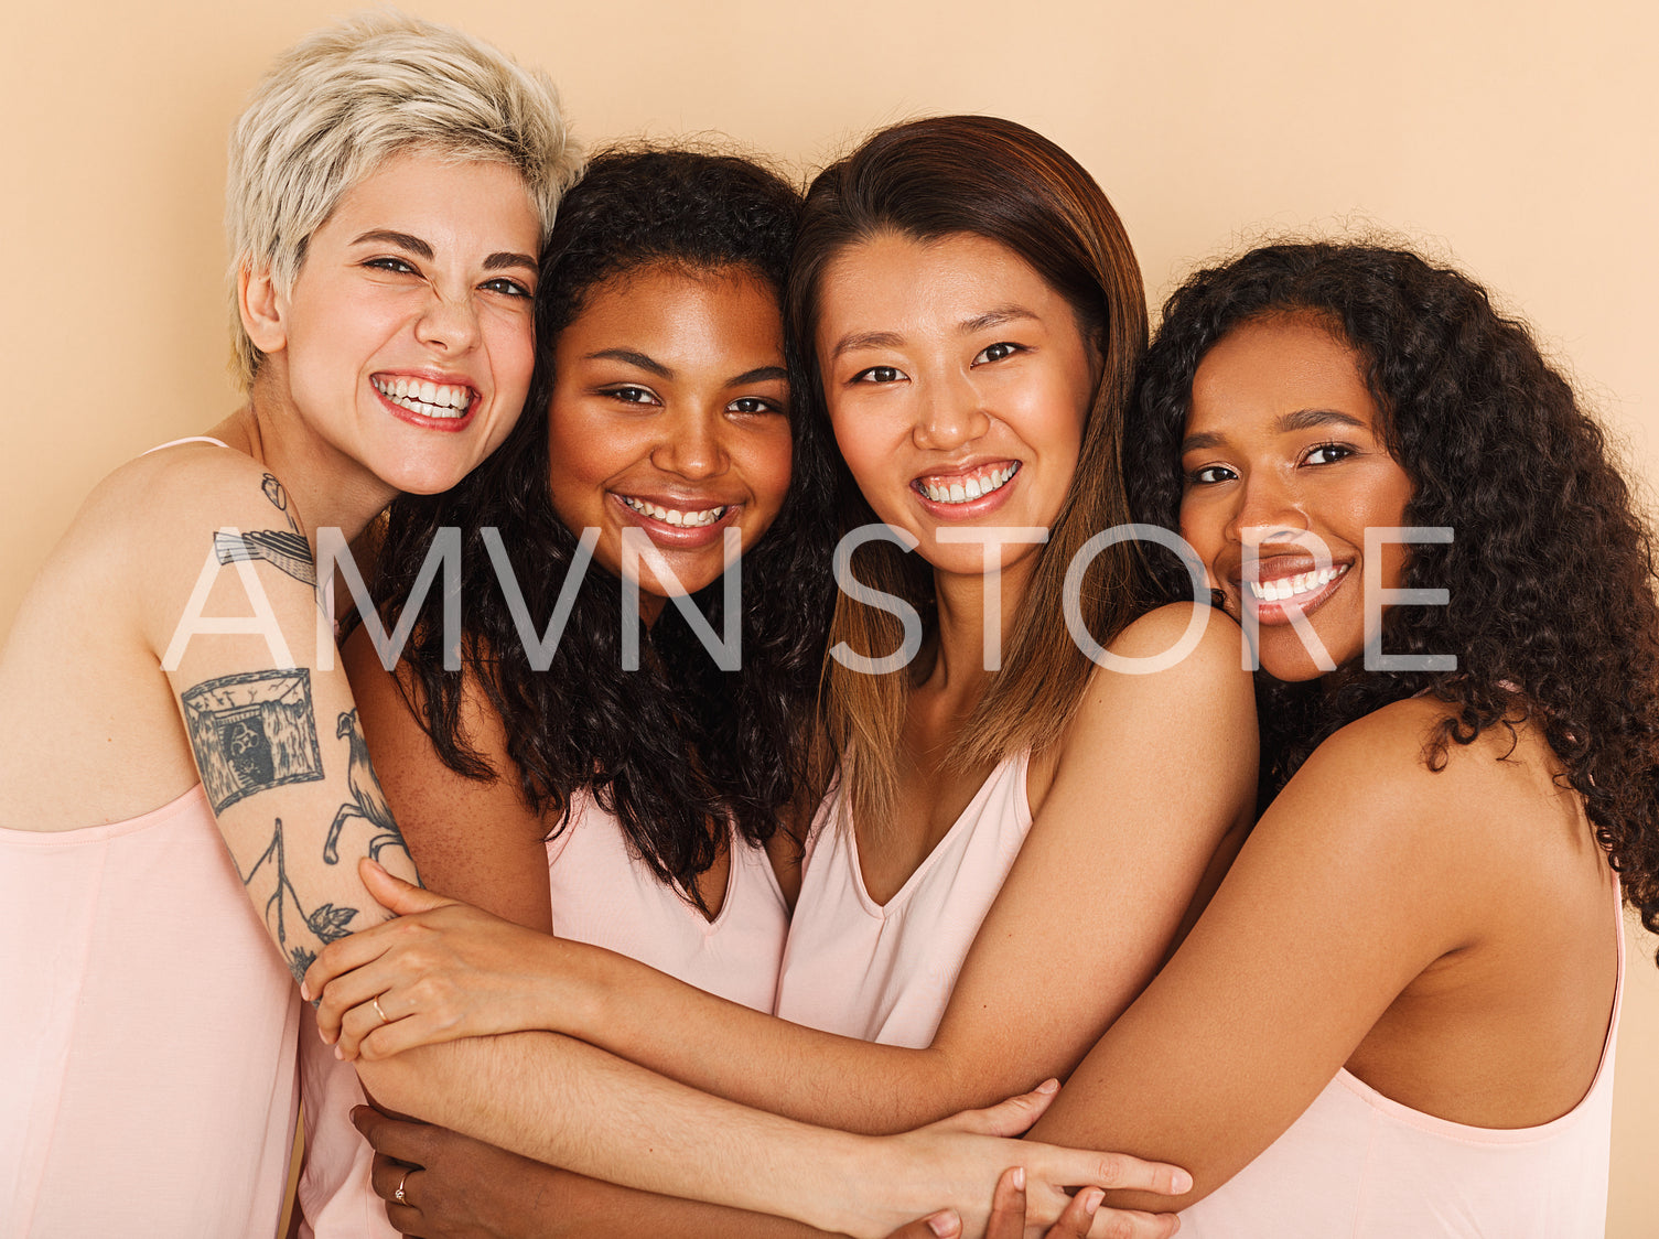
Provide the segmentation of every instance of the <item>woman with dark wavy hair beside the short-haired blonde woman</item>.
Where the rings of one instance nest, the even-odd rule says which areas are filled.
[[[765,849],[813,801],[831,587],[826,448],[783,350],[798,216],[747,159],[596,156],[542,259],[524,416],[461,484],[390,509],[375,627],[411,625],[401,662],[368,624],[347,645],[428,886],[760,1010],[788,927]],[[418,584],[450,531],[458,629]],[[362,1096],[348,1067],[330,1080],[302,1198],[338,1194],[314,1221],[360,1209],[324,1176],[355,1158],[368,1186]]]

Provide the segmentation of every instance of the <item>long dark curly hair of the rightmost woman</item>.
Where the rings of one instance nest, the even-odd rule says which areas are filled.
[[[1199,270],[1165,305],[1141,372],[1125,468],[1136,519],[1176,527],[1193,377],[1234,328],[1316,315],[1360,358],[1390,454],[1413,483],[1405,524],[1450,526],[1413,544],[1405,587],[1445,607],[1394,607],[1390,654],[1455,654],[1448,672],[1340,668],[1312,685],[1258,675],[1262,790],[1271,798],[1332,731],[1428,692],[1455,707],[1448,746],[1528,717],[1642,924],[1659,929],[1659,609],[1654,549],[1606,435],[1468,277],[1375,245],[1286,244]],[[1166,579],[1171,595],[1190,590]]]

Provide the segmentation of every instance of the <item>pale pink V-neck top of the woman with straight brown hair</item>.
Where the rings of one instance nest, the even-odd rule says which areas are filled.
[[[886,904],[864,889],[839,785],[813,821],[775,1013],[883,1045],[926,1047],[967,949],[1032,826],[1025,768],[1007,758]]]

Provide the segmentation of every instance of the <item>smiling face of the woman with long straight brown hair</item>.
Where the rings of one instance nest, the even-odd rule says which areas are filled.
[[[1067,300],[1012,250],[975,236],[848,247],[825,275],[818,355],[859,489],[883,521],[924,541],[936,572],[985,574],[979,547],[941,544],[939,527],[1053,524],[1100,362]],[[1010,464],[1012,481],[959,508],[917,489]],[[1029,571],[1035,556],[1010,542],[999,564],[1024,582],[1015,564]]]

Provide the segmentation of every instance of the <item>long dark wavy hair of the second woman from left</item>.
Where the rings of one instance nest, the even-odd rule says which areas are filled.
[[[466,672],[506,725],[524,799],[562,829],[571,798],[592,791],[664,881],[693,901],[695,877],[718,856],[715,823],[765,843],[780,814],[806,799],[805,751],[831,610],[830,456],[821,428],[790,415],[793,476],[771,529],[742,561],[742,668],[725,672],[677,607],[642,639],[640,667],[622,670],[620,582],[591,564],[546,670],[531,665],[483,531],[501,546],[544,632],[577,552],[552,509],[547,400],[559,333],[589,292],[647,265],[740,269],[783,292],[800,192],[765,168],[727,154],[615,149],[596,156],[559,204],[536,294],[536,378],[524,416],[455,489],[392,504],[375,597],[383,617],[403,604],[440,529],[461,531],[461,632]],[[798,367],[790,362],[791,377]],[[791,383],[801,390],[800,381]],[[791,401],[795,403],[795,401]],[[405,700],[446,765],[474,780],[494,770],[461,728],[463,675],[445,667],[441,590],[421,602],[403,655]],[[693,595],[723,632],[723,581]]]

